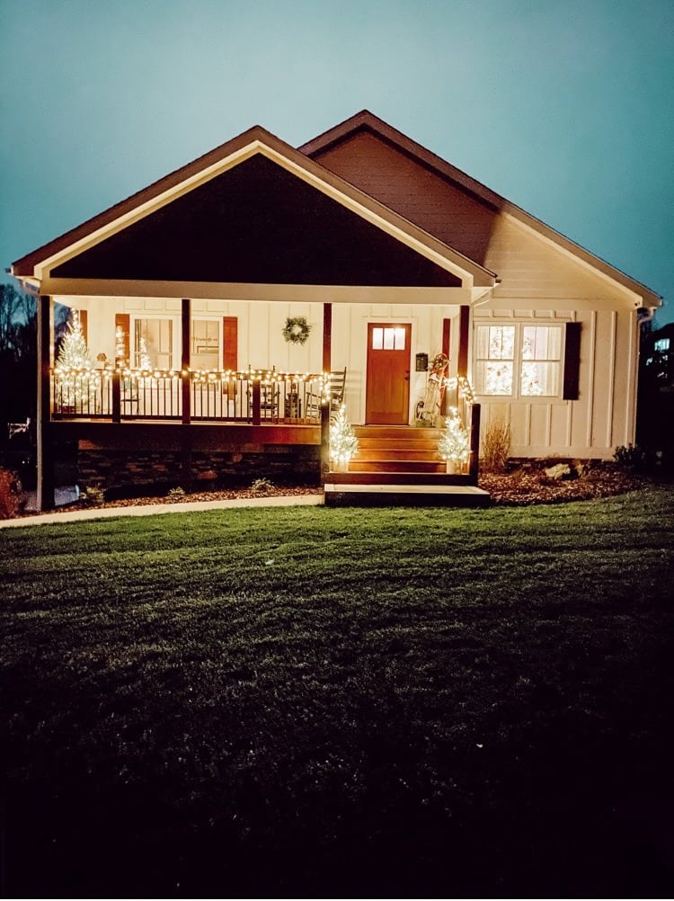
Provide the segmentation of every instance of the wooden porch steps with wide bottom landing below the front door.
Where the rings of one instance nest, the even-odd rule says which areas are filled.
[[[328,506],[487,506],[468,475],[450,475],[437,453],[441,432],[409,426],[354,427],[358,452],[348,472],[328,472]]]

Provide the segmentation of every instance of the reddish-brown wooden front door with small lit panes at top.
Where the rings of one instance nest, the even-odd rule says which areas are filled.
[[[409,422],[410,323],[368,323],[365,423]]]

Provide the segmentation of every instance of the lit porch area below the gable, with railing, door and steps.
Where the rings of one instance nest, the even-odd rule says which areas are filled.
[[[103,460],[105,455],[112,459],[126,451],[130,460],[117,471],[127,474],[143,470],[138,458],[147,451],[152,465],[146,479],[159,470],[165,479],[174,478],[188,490],[207,476],[210,481],[239,484],[248,479],[250,484],[255,472],[265,478],[271,473],[282,484],[293,473],[305,481],[313,478],[315,484],[327,487],[330,499],[338,495],[341,502],[355,501],[356,494],[362,501],[367,485],[378,495],[391,490],[382,487],[386,484],[397,484],[396,494],[423,486],[424,494],[441,495],[447,486],[477,483],[479,406],[473,403],[467,379],[458,375],[467,361],[466,305],[213,300],[206,305],[187,298],[147,305],[139,298],[58,297],[58,301],[77,310],[95,365],[73,369],[64,367],[58,356],[55,359],[54,299],[43,297],[44,506],[49,505],[49,448],[54,441],[76,441],[87,460]],[[285,323],[300,320],[309,325],[307,340],[289,345],[282,336]],[[204,323],[213,326],[210,368],[194,365],[204,361],[204,338],[209,334]],[[164,346],[161,332],[169,336]],[[439,348],[433,343],[438,335]],[[286,365],[295,361],[307,369],[223,366],[236,364],[244,355],[260,359],[263,350],[271,359]],[[440,373],[433,370],[433,350],[446,359]],[[373,359],[380,351],[383,363]],[[157,365],[161,353],[170,369]],[[400,357],[401,368],[391,370],[395,356]],[[44,365],[46,359],[49,366]],[[331,368],[335,362],[339,369]],[[316,363],[324,368],[311,371],[310,365]],[[436,387],[433,407],[428,401],[430,386]],[[373,460],[372,448],[368,450],[372,436],[364,437],[348,472],[337,472],[341,468],[329,445],[330,416],[342,404],[357,428],[374,430],[382,451],[382,459]],[[450,408],[456,409],[472,440],[470,463],[454,474],[446,473],[438,453],[438,428]],[[425,461],[414,452],[422,438]],[[162,452],[173,455],[168,469],[157,460]],[[265,469],[268,466],[271,469]],[[103,469],[109,473],[111,468],[105,464]],[[335,485],[340,486],[338,491]]]

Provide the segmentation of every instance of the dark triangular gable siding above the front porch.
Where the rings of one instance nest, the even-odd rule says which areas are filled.
[[[256,155],[55,268],[56,278],[460,287],[461,281]]]

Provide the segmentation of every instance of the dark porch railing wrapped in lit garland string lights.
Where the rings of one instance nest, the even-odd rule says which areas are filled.
[[[324,373],[63,369],[51,373],[55,418],[317,424]]]

